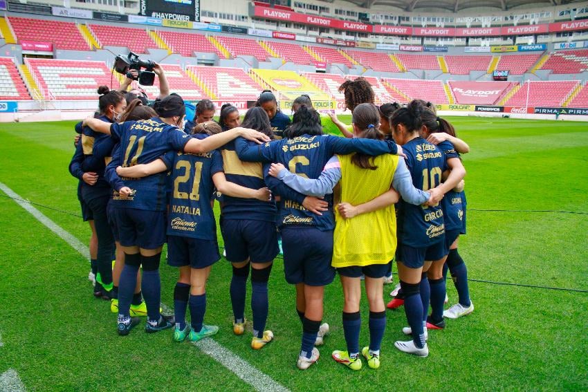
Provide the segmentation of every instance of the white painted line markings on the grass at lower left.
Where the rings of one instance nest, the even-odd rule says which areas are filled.
[[[14,191],[12,191],[12,189],[7,187],[3,183],[0,183],[0,189],[12,198],[22,199],[21,196],[16,194]],[[47,218],[44,214],[42,214],[42,212],[33,207],[33,205],[30,205],[30,203],[26,203],[21,200],[15,200],[15,202],[24,209],[26,209],[26,211],[29,212],[31,215],[33,215],[37,219],[37,221],[41,222],[49,230],[57,234],[57,236],[61,237],[64,241],[66,241],[66,243],[71,245],[73,249],[77,250],[77,252],[80,252],[82,256],[84,256],[86,259],[89,258],[88,248],[86,248],[86,246],[83,243],[81,243],[80,240],[75,238],[72,234],[66,232],[62,227],[59,227],[59,225],[57,225],[55,222]],[[165,304],[161,304],[161,306],[166,312],[170,310],[168,306],[165,306]],[[203,353],[209,355],[210,357],[212,357],[213,360],[219,362],[219,364],[228,368],[228,370],[230,370],[232,373],[235,373],[237,377],[239,377],[241,380],[255,388],[257,391],[288,391],[288,389],[285,386],[279,384],[279,382],[273,380],[270,376],[266,375],[265,373],[262,373],[261,371],[257,370],[257,368],[243,360],[238,355],[235,355],[227,348],[221,346],[213,339],[204,339],[201,342],[194,343],[194,346],[200,348],[200,350],[203,351]],[[0,392],[3,391],[2,388],[5,385],[3,382],[3,377],[6,374],[16,376],[16,380],[20,384],[22,384],[17,373],[11,369],[4,373],[0,378]],[[15,391],[21,390],[24,390],[24,386],[22,387],[22,389],[15,389]]]

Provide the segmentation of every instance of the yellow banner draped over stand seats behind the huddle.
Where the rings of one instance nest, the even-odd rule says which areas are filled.
[[[295,100],[300,94],[309,94],[315,101],[331,101],[331,95],[294,71],[252,69],[252,77],[261,86],[277,91],[279,100]]]

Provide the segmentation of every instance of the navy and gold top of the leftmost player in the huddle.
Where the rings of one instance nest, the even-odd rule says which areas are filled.
[[[107,116],[102,115],[98,118],[104,122],[112,122]],[[81,123],[80,123],[81,124]],[[76,130],[78,124],[76,124]],[[82,180],[86,172],[98,174],[98,180],[94,185],[88,185],[83,180],[80,182],[79,195],[84,200],[93,200],[100,196],[109,195],[110,185],[104,178],[104,169],[111,159],[113,140],[110,136],[94,132],[89,127],[84,127],[80,142],[75,147],[75,153],[69,165],[70,173],[76,178]]]

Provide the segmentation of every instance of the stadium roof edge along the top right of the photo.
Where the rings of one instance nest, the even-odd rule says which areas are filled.
[[[329,1],[329,0],[327,0]],[[333,0],[330,0],[332,2]],[[510,10],[529,6],[537,9],[542,6],[562,6],[569,3],[577,3],[580,0],[347,0],[364,8],[371,6],[391,6],[406,11],[435,11],[446,10],[459,12],[468,8],[496,8],[497,10]]]

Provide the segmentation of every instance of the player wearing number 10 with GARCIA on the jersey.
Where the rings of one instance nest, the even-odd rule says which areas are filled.
[[[445,194],[457,186],[465,176],[465,171],[452,170],[441,184],[443,171],[448,166],[441,150],[419,136],[423,110],[425,107],[418,102],[410,102],[407,107],[395,111],[390,118],[392,136],[403,146],[413,185],[422,190],[439,187]],[[421,207],[401,201],[398,208],[396,263],[410,325],[403,328],[403,332],[412,335],[412,340],[395,342],[394,346],[400,351],[422,357],[429,354],[426,343],[429,303],[438,307],[441,301],[442,312],[445,290],[443,279],[435,281],[430,287],[426,271],[432,264],[435,272],[439,267],[442,269],[447,254],[443,209],[439,203]],[[439,289],[443,289],[443,292]]]

